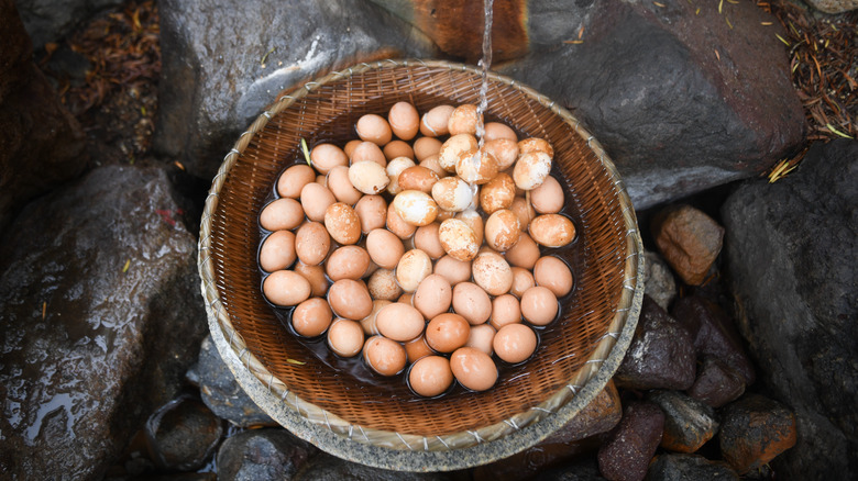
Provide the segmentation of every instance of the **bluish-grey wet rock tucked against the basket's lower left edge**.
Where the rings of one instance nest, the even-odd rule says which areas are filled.
[[[223,359],[206,336],[199,349],[199,359],[187,373],[187,379],[199,387],[202,402],[218,416],[239,427],[276,426],[241,389]]]

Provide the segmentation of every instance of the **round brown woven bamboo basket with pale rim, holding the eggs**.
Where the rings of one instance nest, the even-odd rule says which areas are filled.
[[[332,72],[274,102],[241,135],[213,179],[199,270],[216,344],[263,410],[340,457],[440,470],[508,456],[573,417],[604,388],[628,347],[644,286],[642,247],[624,184],[568,111],[495,74],[488,76],[486,121],[553,145],[552,175],[565,190],[563,214],[579,236],[552,249],[571,266],[575,286],[560,300],[560,318],[540,333],[530,360],[502,369],[486,392],[422,400],[400,378],[364,382],[344,373],[290,334],[263,298],[257,215],[278,175],[302,161],[301,138],[343,145],[356,137],[361,115],[384,113],[398,101],[420,112],[479,103],[481,81],[475,68],[430,60],[385,60]],[[417,463],[407,462],[418,452]]]

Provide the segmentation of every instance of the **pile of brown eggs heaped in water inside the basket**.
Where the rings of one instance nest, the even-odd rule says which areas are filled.
[[[487,390],[497,361],[532,356],[535,328],[573,284],[540,246],[571,243],[575,227],[551,145],[482,124],[475,105],[420,116],[399,102],[361,116],[360,138],[315,145],[284,170],[260,214],[258,262],[268,302],[294,306],[296,335],[363,354],[381,376],[407,368],[426,398],[457,381]]]

